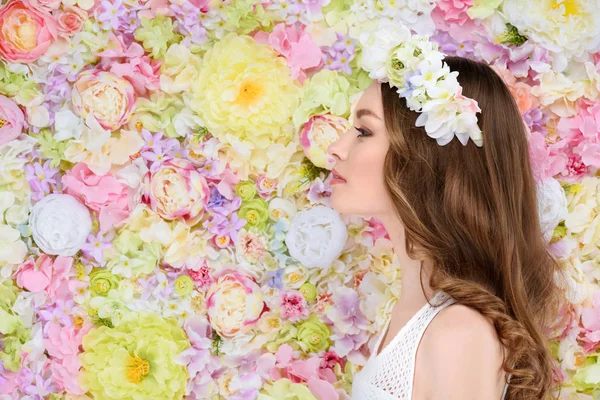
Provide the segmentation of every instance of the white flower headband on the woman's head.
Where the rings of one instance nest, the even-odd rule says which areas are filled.
[[[462,95],[456,80],[444,62],[444,54],[427,36],[412,35],[399,21],[381,20],[375,32],[360,36],[363,46],[362,68],[369,77],[389,82],[408,108],[421,113],[416,125],[440,146],[454,136],[466,145],[469,138],[481,147],[483,135],[477,125],[481,109],[473,99]]]

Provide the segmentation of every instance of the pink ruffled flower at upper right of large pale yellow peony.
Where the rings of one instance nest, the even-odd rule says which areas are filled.
[[[321,48],[312,37],[296,26],[277,24],[272,33],[258,32],[254,36],[256,42],[268,44],[287,59],[292,79],[300,83],[306,79],[305,70],[321,63]]]

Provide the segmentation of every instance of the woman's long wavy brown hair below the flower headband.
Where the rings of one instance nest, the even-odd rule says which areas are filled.
[[[519,109],[486,64],[447,57],[463,94],[477,100],[483,147],[445,146],[416,127],[418,114],[381,85],[390,148],[387,190],[409,255],[434,264],[430,285],[488,317],[507,349],[507,399],[545,399],[554,387],[549,329],[562,302],[537,215]],[[416,257],[415,257],[416,258]],[[422,283],[422,282],[421,282]]]

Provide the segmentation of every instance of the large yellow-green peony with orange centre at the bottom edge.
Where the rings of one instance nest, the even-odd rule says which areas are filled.
[[[84,336],[79,383],[96,399],[183,399],[188,373],[175,359],[189,347],[174,319],[132,312]]]

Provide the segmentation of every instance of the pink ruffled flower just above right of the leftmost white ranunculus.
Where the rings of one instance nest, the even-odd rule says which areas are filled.
[[[129,215],[129,188],[111,174],[96,175],[78,163],[62,178],[67,193],[99,212],[100,229],[106,232]]]

